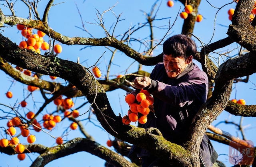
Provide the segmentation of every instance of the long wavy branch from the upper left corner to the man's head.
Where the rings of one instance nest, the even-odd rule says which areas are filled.
[[[159,62],[162,62],[162,54],[156,57],[147,57],[144,56],[134,49],[130,48],[128,45],[118,41],[116,38],[113,37],[105,37],[100,39],[94,38],[86,38],[86,37],[67,37],[64,36],[51,28],[48,28],[46,23],[41,22],[40,20],[27,20],[24,18],[19,17],[6,17],[5,24],[8,25],[15,25],[15,24],[22,24],[24,26],[28,26],[30,28],[39,29],[43,31],[47,35],[50,35],[53,39],[60,41],[66,45],[90,45],[90,46],[110,46],[114,47],[123,53],[125,53],[128,57],[138,61],[142,65],[156,65]]]

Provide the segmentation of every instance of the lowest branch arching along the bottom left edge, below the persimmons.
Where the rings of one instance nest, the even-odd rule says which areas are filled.
[[[55,159],[65,157],[80,151],[86,151],[92,155],[96,155],[115,166],[136,167],[134,163],[130,163],[118,153],[115,153],[114,151],[111,151],[99,143],[89,139],[75,138],[68,141],[67,143],[54,147],[45,147],[41,144],[29,144],[24,146],[24,153],[40,154],[38,158],[32,163],[31,167],[44,167],[44,165]],[[0,147],[0,152],[6,153],[8,155],[14,155],[16,154],[15,145]]]

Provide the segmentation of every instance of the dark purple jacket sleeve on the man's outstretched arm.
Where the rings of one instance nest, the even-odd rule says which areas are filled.
[[[156,98],[175,106],[183,107],[195,102],[203,104],[208,92],[208,79],[203,72],[197,72],[188,77],[187,81],[176,86],[152,80],[148,91]]]

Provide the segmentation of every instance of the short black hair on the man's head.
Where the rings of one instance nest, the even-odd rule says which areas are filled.
[[[185,60],[196,54],[196,43],[188,35],[178,34],[166,39],[163,45],[164,55],[181,57]]]

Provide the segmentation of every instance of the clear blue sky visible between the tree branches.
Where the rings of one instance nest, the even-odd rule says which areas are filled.
[[[153,2],[153,1],[152,1]],[[79,28],[82,28],[82,21],[80,19],[80,15],[78,14],[78,10],[76,8],[76,4],[78,6],[79,12],[82,16],[84,25],[86,29],[96,38],[101,38],[105,37],[104,30],[96,25],[97,20],[97,10],[102,13],[104,10],[108,10],[112,6],[116,4],[116,6],[112,9],[114,14],[118,16],[121,14],[120,21],[115,30],[115,35],[119,35],[127,31],[130,26],[136,26],[138,23],[145,22],[145,16],[142,11],[149,12],[150,8],[152,6],[152,2],[149,2],[147,0],[130,0],[130,1],[115,1],[115,0],[85,0],[85,1],[74,1],[74,0],[68,0],[66,2],[56,0],[54,1],[55,6],[52,6],[49,12],[49,26],[54,29],[55,31],[58,31],[59,33],[62,33],[63,35],[69,36],[69,37],[90,37],[90,35],[84,31],[82,31]],[[209,3],[211,4],[209,4]],[[231,24],[231,21],[228,20],[228,9],[230,8],[235,8],[236,3],[229,4],[227,6],[224,6],[219,12],[218,8],[222,7],[224,5],[224,2],[219,2],[219,1],[213,1],[209,0],[206,2],[205,0],[202,0],[201,5],[199,7],[199,13],[202,14],[204,19],[200,23],[196,23],[195,29],[194,29],[194,35],[200,39],[203,43],[209,43],[209,42],[214,42],[218,39],[223,39],[224,37],[227,37],[226,32],[229,24]],[[47,1],[41,1],[38,5],[38,12],[40,16],[42,17],[42,14],[44,12],[44,7],[46,6]],[[160,2],[158,2],[158,5],[160,5],[158,14],[156,18],[170,18],[170,24],[172,24],[176,18],[176,15],[178,14],[179,10],[182,11],[184,10],[184,6],[178,2],[174,2],[174,6],[172,8],[168,7],[166,5],[167,1],[164,0],[162,1],[162,4],[160,5]],[[223,4],[221,4],[223,3]],[[212,6],[215,6],[216,8],[213,8]],[[7,8],[4,8],[2,5],[0,6],[2,11],[4,12],[5,15],[10,15],[10,12],[7,10]],[[23,17],[23,18],[28,18],[28,8],[24,6],[20,1],[16,2],[14,4],[14,9],[16,11],[16,16],[18,17]],[[216,16],[216,21],[214,22],[215,14],[218,12]],[[113,23],[116,22],[116,17],[114,16],[112,12],[107,12],[104,14],[104,25],[107,30],[113,29],[112,25]],[[34,19],[34,18],[33,18]],[[163,25],[168,25],[169,20],[159,20],[154,23],[155,26],[163,26]],[[181,19],[178,16],[178,19],[175,21],[174,27],[170,31],[170,35],[178,34],[181,32],[182,29],[182,24],[183,24],[183,19]],[[214,27],[215,25],[215,27]],[[79,28],[77,28],[79,27]],[[164,36],[166,33],[166,29],[161,28],[155,28],[154,29],[154,37],[156,39],[160,39]],[[20,31],[14,26],[12,28],[6,28],[4,29],[4,32],[2,34],[6,37],[9,37],[12,41],[16,43],[20,43],[22,41],[22,35]],[[214,34],[213,38],[212,35]],[[149,35],[149,28],[145,27],[141,31],[138,31],[134,33],[133,37],[139,38],[139,39],[144,39],[145,37],[148,37]],[[211,40],[212,38],[212,40]],[[48,41],[47,37],[44,37],[44,40]],[[197,45],[200,46],[200,42],[194,38],[196,41]],[[211,40],[211,41],[210,41]],[[236,48],[236,44],[229,45],[228,47],[219,49],[218,51],[220,53],[230,51],[234,48]],[[103,76],[106,75],[106,66],[108,65],[111,53],[106,49],[105,47],[88,47],[86,49],[82,49],[83,46],[80,45],[74,45],[74,46],[68,46],[68,45],[62,45],[63,51],[58,55],[61,59],[68,59],[70,61],[77,61],[77,58],[80,57],[80,62],[82,65],[85,67],[90,67],[94,65],[94,63],[100,58],[100,56],[106,51],[104,56],[100,59],[98,62],[98,67],[102,71]],[[133,43],[132,48],[139,50],[139,52],[144,51],[144,47],[140,47],[138,43]],[[82,50],[80,50],[82,49]],[[113,48],[111,48],[113,50]],[[198,51],[200,48],[198,48]],[[162,52],[162,46],[158,46],[156,50],[153,52],[154,55],[158,55]],[[237,49],[229,53],[229,56],[234,56],[237,53]],[[217,54],[211,54],[212,57],[218,58]],[[223,59],[226,59],[224,57]],[[219,57],[218,59],[220,63],[222,63],[222,58]],[[111,67],[110,75],[113,77],[119,75],[119,74],[124,74],[125,70],[128,69],[128,73],[132,73],[135,71],[138,71],[138,63],[133,63],[133,59],[130,59],[126,57],[123,53],[120,53],[119,51],[116,53],[116,56],[114,57],[113,64]],[[131,66],[130,66],[131,65]],[[199,65],[201,67],[201,65]],[[15,66],[14,66],[15,67]],[[152,66],[146,67],[143,66],[144,71],[151,72],[153,69]],[[16,100],[20,102],[24,97],[28,95],[28,91],[26,90],[26,86],[24,86],[21,83],[14,82],[12,84],[12,79],[5,75],[3,71],[0,71],[0,78],[4,81],[0,85],[2,89],[0,89],[0,94],[2,94],[1,98],[1,104],[10,104],[14,105]],[[43,79],[52,81],[49,76],[43,76]],[[103,79],[103,78],[101,78]],[[250,82],[248,83],[237,83],[236,85],[234,84],[234,90],[232,92],[232,95],[230,99],[232,98],[243,98],[246,100],[246,104],[254,104],[254,91],[255,91],[255,86],[254,86],[254,80],[255,80],[255,75],[250,76]],[[56,82],[64,83],[62,79],[56,79]],[[12,86],[11,86],[12,84]],[[10,87],[11,86],[11,87]],[[5,93],[7,90],[10,88],[10,90],[13,92],[14,96],[12,99],[8,99],[5,97]],[[25,90],[23,90],[25,89]],[[110,100],[110,104],[112,104],[112,108],[116,114],[121,113],[121,115],[126,114],[128,110],[128,105],[124,101],[124,95],[125,95],[124,90],[115,90],[113,92],[108,92],[107,95]],[[33,102],[33,98],[36,101],[35,103]],[[42,97],[40,95],[40,92],[34,92],[33,93],[33,98],[30,97],[28,98],[28,107],[25,109],[19,109],[21,113],[26,113],[28,110],[36,111],[40,106],[42,105]],[[75,107],[78,107],[80,104],[85,102],[86,99],[84,97],[80,97],[76,100],[76,105]],[[36,104],[36,105],[34,105]],[[83,108],[80,109],[80,113],[86,112],[89,108],[89,105],[84,106]],[[10,111],[8,108],[5,108],[3,106],[0,106],[0,109],[4,111]],[[47,108],[43,111],[43,114],[45,113],[51,113],[56,110],[56,106],[54,104],[49,104]],[[0,113],[2,115],[2,111],[0,110]],[[83,116],[80,116],[80,120],[84,120],[88,118],[88,114],[85,114]],[[215,120],[212,125],[216,125],[220,121],[224,121],[225,119],[228,119],[230,121],[234,121],[236,123],[239,122],[239,117],[237,116],[230,116],[228,112],[222,112],[220,116],[218,116],[217,120]],[[255,134],[254,134],[254,129],[255,125],[253,124],[253,119],[254,118],[245,118],[243,125],[248,126],[245,129],[246,137],[247,139],[250,139],[252,141],[255,141]],[[55,130],[51,132],[53,136],[60,136],[62,133],[68,128],[69,124],[71,122],[68,120],[64,120],[58,126],[56,127]],[[110,139],[114,139],[112,136],[108,135],[108,133],[103,130],[102,128],[98,128],[96,125],[99,125],[98,122],[96,121],[96,118],[92,116],[91,122],[88,120],[83,121],[84,126],[86,130],[88,131],[89,134],[91,134],[95,140],[106,146],[106,141]],[[0,120],[0,126],[6,126],[6,120],[2,121]],[[241,137],[240,133],[238,130],[231,125],[226,125],[224,123],[220,124],[218,126],[222,130],[230,132],[234,136],[239,136]],[[3,132],[1,132],[4,134]],[[36,143],[42,143],[46,146],[53,146],[55,144],[55,140],[52,139],[48,134],[44,134],[42,132],[36,133],[36,132],[31,132],[33,135],[36,136]],[[70,131],[68,133],[67,138],[64,139],[73,139],[75,137],[83,137],[82,134],[78,131]],[[26,139],[20,138],[20,141],[24,144],[26,144]],[[220,155],[219,160],[224,161],[227,166],[231,166],[228,163],[228,146],[225,146],[223,144],[219,144],[218,142],[214,142],[214,147],[217,150],[217,152],[220,154],[226,154],[226,155]],[[113,148],[110,148],[113,149]],[[24,161],[19,161],[16,157],[16,155],[10,156],[10,155],[5,155],[5,154],[0,154],[0,167],[8,167],[8,166],[17,166],[17,167],[23,167],[23,166],[29,166],[31,165],[32,161],[30,158],[28,158],[28,155],[32,160],[34,160],[38,154],[27,154],[27,157]],[[2,160],[4,159],[4,160]],[[80,152],[76,153],[74,155],[70,155],[68,157],[63,157],[60,159],[57,159],[55,161],[50,162],[46,167],[51,167],[51,166],[72,166],[76,165],[77,167],[99,167],[99,166],[104,166],[104,160],[91,155],[90,153],[86,152]]]

